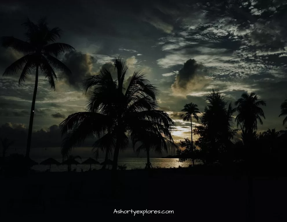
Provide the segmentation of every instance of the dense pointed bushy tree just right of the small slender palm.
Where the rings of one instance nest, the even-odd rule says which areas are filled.
[[[231,104],[225,108],[227,103],[218,89],[206,95],[206,100],[208,105],[200,119],[201,125],[194,130],[200,135],[195,144],[200,147],[206,163],[224,162],[230,155],[231,139],[237,132],[232,126],[233,110]]]

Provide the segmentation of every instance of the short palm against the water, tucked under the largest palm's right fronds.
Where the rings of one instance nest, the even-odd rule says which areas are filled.
[[[138,127],[131,133],[133,148],[135,150],[136,143],[141,145],[136,149],[136,153],[145,151],[147,153],[147,169],[151,168],[149,158],[150,151],[161,154],[162,151],[168,153],[175,151],[178,147],[173,143],[170,129],[162,124],[155,124],[151,128]]]

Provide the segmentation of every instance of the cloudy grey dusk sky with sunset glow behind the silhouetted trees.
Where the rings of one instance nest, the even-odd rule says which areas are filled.
[[[57,72],[55,92],[40,77],[34,130],[42,135],[38,132],[32,140],[44,140],[41,136],[56,129],[51,126],[84,111],[83,77],[103,65],[110,68],[118,55],[129,64],[127,78],[141,69],[160,88],[160,106],[178,125],[176,142],[190,137],[190,123],[180,120],[180,110],[193,102],[203,111],[204,95],[212,88],[232,102],[254,91],[267,102],[258,131],[284,128],[278,115],[287,96],[287,1],[7,2],[0,3],[1,36],[23,39],[26,17],[36,22],[46,16],[50,27],[63,30],[60,42],[76,49],[61,57],[73,74]],[[21,56],[1,48],[0,73]],[[28,128],[34,75],[20,87],[17,78],[0,78],[2,129]]]

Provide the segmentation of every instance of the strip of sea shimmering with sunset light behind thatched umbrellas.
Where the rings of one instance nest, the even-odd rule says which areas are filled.
[[[40,163],[45,159],[34,159],[36,162]],[[62,162],[62,159],[56,159],[59,162]],[[82,161],[77,160],[78,162],[84,162],[86,159],[82,159]],[[103,162],[104,159],[99,158],[98,162]],[[178,168],[181,167],[188,167],[189,164],[192,164],[191,161],[185,161],[185,162],[178,162],[177,158],[151,158],[150,159],[151,164],[154,168],[160,167],[160,168]],[[124,165],[126,164],[127,170],[130,169],[144,169],[146,165],[147,159],[146,158],[125,158],[118,160],[118,165]],[[199,162],[195,162],[195,164],[200,164]],[[32,167],[32,169],[36,171],[46,171],[49,169],[50,166],[47,165],[35,165]],[[101,169],[101,165],[93,165],[92,169]],[[108,167],[108,166],[107,166]],[[84,171],[89,170],[90,165],[88,164],[79,164],[79,165],[72,165],[72,170],[77,169],[77,172],[80,172],[81,169]],[[111,165],[109,166],[109,169],[111,169]],[[62,172],[67,171],[67,165],[51,165],[51,171],[53,172]]]

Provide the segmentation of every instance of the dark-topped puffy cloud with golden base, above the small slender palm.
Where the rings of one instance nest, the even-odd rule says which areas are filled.
[[[178,95],[188,95],[189,92],[202,90],[210,82],[205,75],[204,66],[198,64],[194,59],[189,59],[176,75],[171,89],[174,94]]]

